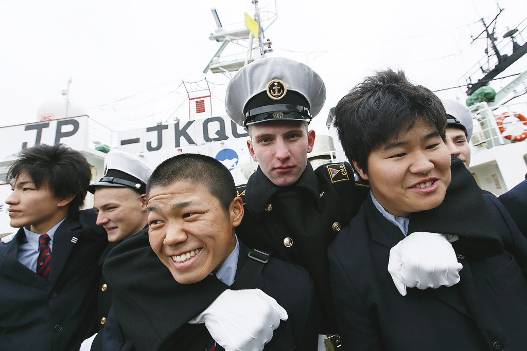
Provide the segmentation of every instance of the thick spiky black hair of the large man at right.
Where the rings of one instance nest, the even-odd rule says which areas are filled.
[[[364,78],[340,99],[334,125],[347,158],[366,174],[370,153],[403,129],[408,132],[418,118],[437,128],[445,140],[441,100],[430,89],[408,82],[403,71],[386,69]]]

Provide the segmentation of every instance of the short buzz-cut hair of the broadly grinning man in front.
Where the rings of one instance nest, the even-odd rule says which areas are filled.
[[[154,169],[147,184],[147,198],[152,188],[168,186],[180,180],[207,187],[226,214],[237,196],[232,174],[217,159],[199,154],[181,154],[163,161]]]

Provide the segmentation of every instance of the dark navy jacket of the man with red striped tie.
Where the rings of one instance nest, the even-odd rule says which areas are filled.
[[[0,349],[77,351],[97,332],[97,261],[108,241],[95,219],[84,210],[57,228],[49,282],[17,260],[23,228],[0,243]]]

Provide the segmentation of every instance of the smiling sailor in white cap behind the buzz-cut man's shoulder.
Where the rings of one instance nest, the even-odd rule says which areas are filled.
[[[110,251],[124,239],[147,227],[146,187],[152,168],[139,158],[119,150],[111,151],[104,159],[104,176],[88,187],[93,194],[96,224],[108,234],[108,247],[99,260],[102,267]],[[97,320],[104,327],[111,308],[112,289],[104,276],[99,284]],[[92,350],[102,347],[102,333],[91,344]],[[87,345],[83,344],[84,349]]]

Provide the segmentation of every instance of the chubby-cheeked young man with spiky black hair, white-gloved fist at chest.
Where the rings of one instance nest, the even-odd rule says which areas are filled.
[[[342,349],[526,349],[527,240],[492,195],[482,195],[487,213],[471,212],[470,203],[444,201],[448,192],[477,185],[473,179],[451,181],[447,121],[437,96],[388,69],[355,86],[335,113],[346,156],[371,189],[328,247]],[[411,288],[402,296],[392,282],[398,267],[388,259],[403,240],[419,247],[414,234],[405,239],[410,216],[444,205],[462,210],[467,224],[488,216],[505,250],[489,258],[477,249],[460,255],[462,238],[437,234],[436,249],[444,248],[444,255],[462,265],[460,282]],[[414,255],[419,262],[434,250],[421,246]]]

